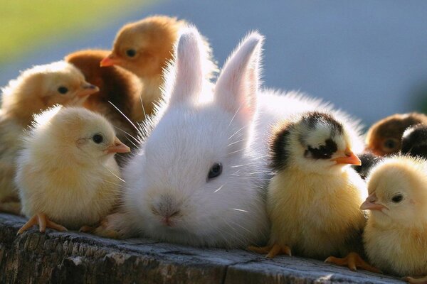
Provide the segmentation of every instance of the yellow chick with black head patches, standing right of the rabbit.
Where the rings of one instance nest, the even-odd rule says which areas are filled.
[[[310,112],[278,127],[271,143],[275,176],[268,185],[269,246],[255,249],[325,259],[374,270],[362,251],[365,217],[359,208],[366,184],[345,165],[360,165],[348,129],[330,114]],[[250,248],[253,249],[253,248]]]

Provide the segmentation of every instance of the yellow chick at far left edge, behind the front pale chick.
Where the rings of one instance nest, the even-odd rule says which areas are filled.
[[[30,124],[33,114],[55,104],[81,105],[98,88],[86,82],[73,65],[59,61],[23,71],[1,91],[0,211],[19,214],[14,176],[23,129]]]

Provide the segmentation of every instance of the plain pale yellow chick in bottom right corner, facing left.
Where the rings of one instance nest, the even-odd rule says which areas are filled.
[[[427,162],[421,158],[386,158],[368,180],[370,210],[364,230],[369,261],[394,275],[427,274]],[[427,283],[427,278],[413,283]]]

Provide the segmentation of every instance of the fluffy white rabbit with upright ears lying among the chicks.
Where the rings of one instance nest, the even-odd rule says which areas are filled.
[[[166,74],[167,103],[142,129],[149,135],[124,170],[125,217],[110,220],[124,234],[226,248],[267,240],[270,128],[290,114],[331,108],[296,93],[258,91],[262,42],[248,35],[213,89],[204,87],[201,36],[196,28],[181,35]]]

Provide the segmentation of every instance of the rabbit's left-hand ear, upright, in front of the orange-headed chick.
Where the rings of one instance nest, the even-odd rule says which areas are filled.
[[[176,46],[175,78],[170,98],[172,104],[199,98],[204,80],[204,62],[208,56],[199,31],[194,27],[184,28]]]

